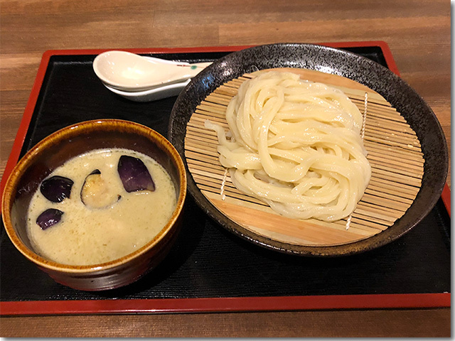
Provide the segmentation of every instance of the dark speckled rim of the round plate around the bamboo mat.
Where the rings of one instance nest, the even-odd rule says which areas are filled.
[[[245,72],[273,67],[301,67],[355,80],[382,95],[416,132],[424,153],[422,186],[411,207],[391,227],[373,237],[336,246],[297,246],[262,237],[223,215],[200,192],[188,171],[184,141],[186,124],[200,102],[217,87]],[[386,67],[337,48],[304,43],[259,45],[216,60],[193,78],[178,96],[168,126],[168,139],[181,154],[188,174],[188,190],[196,203],[216,222],[253,244],[302,256],[341,256],[381,247],[401,237],[436,205],[446,181],[449,156],[446,139],[434,112],[410,85]]]

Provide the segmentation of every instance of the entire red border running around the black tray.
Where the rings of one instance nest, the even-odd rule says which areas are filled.
[[[385,41],[346,41],[319,43],[333,48],[378,46],[381,48],[387,66],[400,75],[392,52]],[[212,46],[203,48],[127,48],[132,53],[198,53],[242,50],[252,45]],[[28,126],[35,109],[41,85],[50,57],[53,55],[99,54],[112,49],[47,50],[38,67],[35,82],[26,104],[21,124],[4,175],[0,181],[0,197],[3,196],[6,180],[16,165]],[[446,184],[441,195],[450,215],[450,188]],[[252,308],[254,307],[254,308]],[[173,298],[142,300],[94,300],[94,301],[4,301],[0,302],[0,315],[46,315],[82,313],[188,313],[216,311],[264,311],[264,310],[323,310],[355,308],[444,308],[450,307],[450,293],[380,294],[346,296],[273,296],[247,298]]]

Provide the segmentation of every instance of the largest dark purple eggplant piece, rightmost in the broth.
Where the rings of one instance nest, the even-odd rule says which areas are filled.
[[[149,190],[151,192],[155,190],[154,180],[140,158],[127,155],[120,156],[117,171],[123,187],[128,193],[138,190]]]

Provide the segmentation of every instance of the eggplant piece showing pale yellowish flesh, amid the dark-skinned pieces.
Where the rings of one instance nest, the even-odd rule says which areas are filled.
[[[80,190],[80,200],[85,206],[92,208],[112,206],[120,198],[121,195],[116,193],[114,186],[105,181],[98,169],[87,175]]]

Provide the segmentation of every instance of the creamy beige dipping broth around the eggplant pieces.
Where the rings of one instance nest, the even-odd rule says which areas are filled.
[[[146,165],[155,190],[128,193],[117,172],[121,156]],[[89,207],[81,200],[87,175],[99,170],[119,200],[106,207]],[[166,170],[153,158],[124,148],[98,149],[76,156],[49,175],[73,180],[70,197],[51,202],[40,189],[28,208],[27,232],[38,254],[61,264],[92,265],[132,253],[153,239],[176,209],[176,188]],[[48,177],[48,178],[49,178]],[[36,220],[50,208],[63,212],[60,222],[42,229]]]

